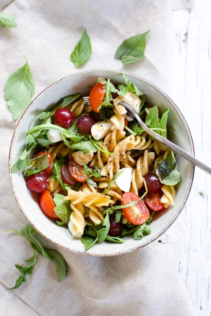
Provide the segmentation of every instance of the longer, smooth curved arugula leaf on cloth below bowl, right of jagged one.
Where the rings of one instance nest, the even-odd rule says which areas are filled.
[[[34,249],[38,253],[40,253],[41,256],[47,258],[50,261],[53,261],[56,266],[58,282],[61,282],[67,274],[67,266],[64,258],[62,257],[62,255],[60,255],[59,252],[44,248],[40,244],[40,242],[36,238],[34,238],[33,234],[35,233],[38,234],[31,225],[26,225],[21,230],[21,234],[31,242],[31,244],[34,246]]]

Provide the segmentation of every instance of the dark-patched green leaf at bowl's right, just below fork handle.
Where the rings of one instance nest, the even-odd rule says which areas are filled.
[[[180,181],[180,173],[175,168],[176,159],[171,151],[170,155],[158,162],[156,174],[161,183],[165,185],[176,185]]]

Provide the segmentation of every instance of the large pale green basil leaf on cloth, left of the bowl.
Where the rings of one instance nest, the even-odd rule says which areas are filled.
[[[5,98],[14,120],[21,116],[34,95],[34,79],[25,60],[26,64],[9,76],[5,86]]]

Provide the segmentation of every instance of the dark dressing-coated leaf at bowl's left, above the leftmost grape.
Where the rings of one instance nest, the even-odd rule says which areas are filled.
[[[28,166],[23,170],[24,178],[28,178],[32,174],[36,174],[49,166],[48,155],[44,154],[29,160]]]

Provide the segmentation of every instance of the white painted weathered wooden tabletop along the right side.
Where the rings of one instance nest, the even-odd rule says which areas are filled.
[[[190,127],[195,156],[211,166],[211,1],[175,1],[173,17],[172,98]],[[211,315],[210,190],[211,176],[195,168],[183,211],[150,246],[174,259],[200,316]]]

